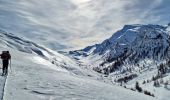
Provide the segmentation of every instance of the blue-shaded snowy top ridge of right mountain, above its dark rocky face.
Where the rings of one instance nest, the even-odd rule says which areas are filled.
[[[162,25],[152,25],[152,24],[148,24],[148,25],[142,25],[142,24],[134,24],[134,25],[124,25],[124,27],[117,31],[116,33],[114,33],[109,39],[106,39],[105,41],[103,41],[101,44],[95,44],[93,46],[88,46],[87,48],[84,48],[82,50],[77,50],[75,52],[83,52],[83,54],[86,54],[86,56],[91,55],[91,54],[103,54],[105,53],[106,50],[104,49],[110,49],[109,46],[110,45],[115,45],[116,43],[118,43],[118,41],[122,42],[122,45],[124,43],[131,43],[133,42],[133,40],[135,38],[138,37],[142,37],[145,38],[156,38],[158,35],[160,35],[159,33],[165,33],[167,27],[164,27]],[[147,34],[146,34],[147,33]],[[88,51],[91,51],[92,48],[93,52],[89,53]],[[73,52],[72,52],[73,53]],[[80,55],[83,55],[80,53]]]

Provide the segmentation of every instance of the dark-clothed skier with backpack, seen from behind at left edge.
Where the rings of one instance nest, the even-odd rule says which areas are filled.
[[[0,54],[0,56],[2,59],[2,63],[3,63],[2,76],[4,76],[4,75],[8,74],[8,64],[9,64],[9,60],[11,59],[11,55],[10,55],[9,51],[2,51],[2,54]]]

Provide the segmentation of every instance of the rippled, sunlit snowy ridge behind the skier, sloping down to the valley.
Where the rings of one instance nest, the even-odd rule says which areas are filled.
[[[24,40],[23,38],[17,37],[12,33],[7,33],[4,31],[0,31],[0,39],[0,47],[9,47],[10,49],[18,50],[20,52],[37,55],[37,57],[34,58],[35,62],[44,63],[47,65],[46,62],[43,62],[47,60],[49,63],[65,68],[70,72],[81,73],[80,68],[77,67],[74,60],[71,60],[62,54],[40,46],[34,42]]]

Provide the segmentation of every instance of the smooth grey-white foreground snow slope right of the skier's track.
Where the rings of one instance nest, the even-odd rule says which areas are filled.
[[[12,72],[7,79],[4,100],[155,100],[87,77],[49,69],[54,66],[37,64],[30,60],[30,55],[19,53],[25,56],[20,59],[15,55],[18,52],[12,54]]]

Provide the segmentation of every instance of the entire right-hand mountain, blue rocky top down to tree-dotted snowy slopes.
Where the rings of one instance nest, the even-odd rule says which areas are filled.
[[[144,88],[140,92],[150,91],[160,100],[169,97],[169,85],[164,86],[170,83],[168,25],[125,25],[101,44],[69,53],[115,84],[133,88],[137,81]]]

